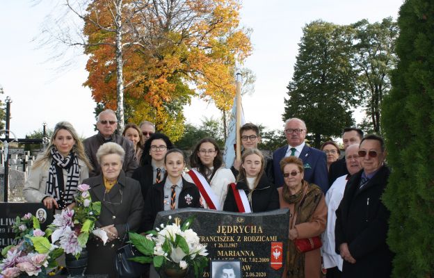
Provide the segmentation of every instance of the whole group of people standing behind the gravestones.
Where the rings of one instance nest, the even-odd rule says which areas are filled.
[[[380,199],[389,170],[382,138],[346,129],[345,156],[337,159],[335,143],[322,150],[308,146],[305,122],[292,118],[284,128],[288,145],[268,158],[257,149],[259,129],[249,123],[239,131],[241,159],[230,169],[216,140],[202,138],[187,171],[184,152],[152,123],[127,124],[122,136],[115,134],[117,124],[114,111],[102,111],[98,133],[81,142],[70,123],[59,122],[24,186],[28,202],[59,211],[73,208],[79,184],[90,185],[93,201],[102,203],[96,225],[109,244],[89,241],[88,274],[115,277],[113,256],[128,231],[148,231],[159,211],[186,207],[242,213],[289,208],[283,277],[321,277],[321,253],[328,277],[389,274],[388,212]],[[296,249],[297,239],[322,234],[322,252]]]

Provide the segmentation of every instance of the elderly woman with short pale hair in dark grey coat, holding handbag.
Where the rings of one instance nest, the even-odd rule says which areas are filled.
[[[101,213],[95,228],[106,231],[109,237],[104,245],[92,238],[88,248],[88,275],[109,275],[116,277],[113,258],[121,247],[127,231],[135,231],[140,226],[143,211],[143,198],[140,183],[125,176],[122,170],[125,152],[114,142],[107,142],[97,151],[97,161],[102,174],[86,179],[90,186],[93,202],[101,202]]]

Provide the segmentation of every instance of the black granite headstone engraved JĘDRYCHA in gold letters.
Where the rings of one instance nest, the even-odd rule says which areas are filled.
[[[243,277],[282,277],[289,227],[287,208],[265,213],[182,208],[159,212],[154,227],[183,222],[191,215],[195,215],[191,229],[201,243],[208,245],[209,259],[241,260]],[[203,277],[210,277],[209,269]]]

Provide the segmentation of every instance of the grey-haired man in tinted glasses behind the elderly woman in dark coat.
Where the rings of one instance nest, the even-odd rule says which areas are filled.
[[[97,117],[98,133],[83,140],[84,149],[93,166],[93,171],[89,171],[89,177],[95,177],[101,173],[101,167],[97,161],[96,154],[99,147],[106,142],[115,142],[124,149],[125,158],[122,170],[124,170],[128,177],[131,177],[134,170],[138,167],[132,142],[115,134],[117,127],[118,120],[115,112],[111,109],[106,109],[99,113]]]

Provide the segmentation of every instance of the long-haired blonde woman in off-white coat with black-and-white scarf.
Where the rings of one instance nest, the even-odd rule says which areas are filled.
[[[54,127],[49,147],[38,156],[24,184],[27,202],[63,209],[74,202],[83,179],[92,169],[77,132],[69,122]]]

